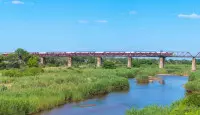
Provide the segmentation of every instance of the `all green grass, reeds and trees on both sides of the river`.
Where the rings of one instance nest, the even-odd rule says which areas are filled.
[[[185,88],[192,94],[170,107],[131,109],[128,115],[198,115],[200,112],[200,72],[190,73],[188,60],[167,60],[165,69],[158,69],[156,59],[133,59],[132,69],[126,68],[126,58],[103,58],[103,68],[98,69],[94,57],[73,57],[73,68],[61,67],[66,60],[47,57],[46,67],[41,68],[37,56],[20,48],[8,56],[0,55],[0,115],[31,114],[95,95],[128,90],[127,78],[148,83],[148,77],[156,74],[190,74]]]

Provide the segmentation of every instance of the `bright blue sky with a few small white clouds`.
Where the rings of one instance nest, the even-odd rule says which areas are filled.
[[[199,0],[0,0],[0,52],[200,52]]]

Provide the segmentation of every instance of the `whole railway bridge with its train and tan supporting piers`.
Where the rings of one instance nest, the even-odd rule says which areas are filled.
[[[8,53],[4,53],[5,55]],[[68,57],[67,66],[72,66],[73,56],[93,56],[97,58],[97,67],[101,67],[102,57],[127,57],[127,67],[132,66],[132,57],[157,57],[159,58],[159,68],[164,68],[166,58],[192,58],[192,71],[196,71],[196,59],[200,58],[200,52],[193,56],[190,52],[163,52],[163,51],[135,51],[135,52],[122,52],[122,51],[84,51],[84,52],[30,52],[30,54],[40,57],[40,63],[44,64],[45,57]]]

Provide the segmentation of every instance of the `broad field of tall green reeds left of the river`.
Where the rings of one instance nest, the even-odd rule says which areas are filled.
[[[157,66],[132,69],[57,67],[44,68],[42,74],[24,77],[6,77],[0,71],[0,115],[36,113],[71,101],[128,90],[127,78],[146,79],[156,74],[184,75],[189,70],[190,67],[185,65],[168,65],[166,69],[158,69]]]

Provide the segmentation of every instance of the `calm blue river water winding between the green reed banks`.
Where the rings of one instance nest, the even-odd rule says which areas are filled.
[[[187,77],[162,76],[162,78],[165,81],[164,85],[158,82],[138,85],[134,79],[130,79],[128,92],[110,93],[104,97],[66,104],[36,115],[125,115],[126,110],[131,107],[143,108],[151,104],[170,105],[184,97],[183,84],[187,82]]]

